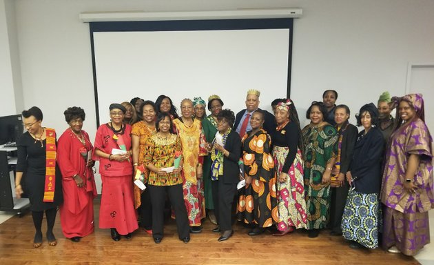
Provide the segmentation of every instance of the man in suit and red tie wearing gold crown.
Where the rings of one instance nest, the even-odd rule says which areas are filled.
[[[259,96],[260,92],[258,90],[251,89],[247,91],[246,97],[246,109],[241,110],[237,113],[235,118],[234,130],[242,137],[246,132],[251,130],[250,118],[253,112],[260,110],[259,106]],[[264,125],[262,128],[269,134],[276,130],[276,119],[267,110],[262,110],[264,112]],[[246,120],[247,119],[247,120]]]

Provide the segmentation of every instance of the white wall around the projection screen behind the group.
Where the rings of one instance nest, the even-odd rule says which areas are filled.
[[[23,106],[41,107],[45,126],[59,132],[67,126],[63,110],[68,106],[84,108],[84,128],[90,135],[96,132],[90,34],[88,25],[79,21],[79,13],[85,11],[302,8],[302,18],[294,21],[291,82],[291,97],[302,117],[325,89],[338,90],[337,103],[348,104],[352,116],[367,101],[375,103],[384,90],[404,95],[407,63],[434,61],[434,1],[17,0],[14,4]],[[425,99],[433,101],[433,93]]]

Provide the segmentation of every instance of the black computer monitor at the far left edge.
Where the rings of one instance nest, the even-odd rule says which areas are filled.
[[[0,144],[17,142],[23,132],[23,118],[20,114],[0,117]]]

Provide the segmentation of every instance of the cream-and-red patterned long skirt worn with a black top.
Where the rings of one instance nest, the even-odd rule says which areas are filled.
[[[288,147],[274,146],[273,157],[277,176],[282,172],[283,165],[289,153]],[[303,162],[301,151],[297,151],[296,158],[286,172],[287,181],[276,181],[278,201],[278,230],[285,231],[289,226],[306,228],[307,212],[304,199]]]

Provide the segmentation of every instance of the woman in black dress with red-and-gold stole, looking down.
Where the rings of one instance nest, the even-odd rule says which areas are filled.
[[[36,229],[33,239],[34,248],[39,248],[42,244],[41,226],[44,211],[47,217],[48,244],[56,246],[53,226],[57,207],[63,201],[61,174],[56,166],[56,132],[54,129],[41,126],[43,115],[38,107],[24,110],[22,115],[27,133],[24,133],[17,143],[15,193],[20,198],[25,190],[30,199],[30,210]],[[21,186],[21,179],[24,179],[23,186]]]

